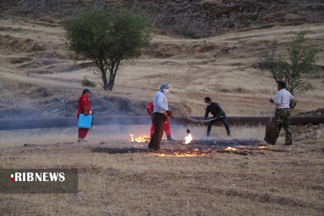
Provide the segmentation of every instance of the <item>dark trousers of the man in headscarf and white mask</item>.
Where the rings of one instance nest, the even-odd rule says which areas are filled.
[[[152,121],[155,130],[148,144],[148,148],[153,148],[154,150],[158,150],[160,149],[160,142],[164,132],[165,115],[163,113],[154,112],[152,115]]]

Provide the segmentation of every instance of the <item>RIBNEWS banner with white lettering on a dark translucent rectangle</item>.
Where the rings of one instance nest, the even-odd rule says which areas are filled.
[[[0,193],[77,193],[78,169],[0,169]]]

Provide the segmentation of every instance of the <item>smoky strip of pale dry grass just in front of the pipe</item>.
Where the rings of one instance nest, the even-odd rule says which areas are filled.
[[[76,119],[76,118],[75,118]],[[207,139],[207,126],[187,125],[190,129],[193,140]],[[149,137],[151,124],[146,125],[98,125],[90,129],[86,140],[88,144],[97,145],[100,143],[112,143],[116,146],[131,143],[129,134],[134,138]],[[257,139],[264,138],[264,125],[258,126],[231,126],[231,137],[228,138],[224,126],[213,126],[211,136],[212,140],[231,140],[231,139]],[[39,128],[39,129],[21,129],[0,131],[0,148],[22,146],[24,144],[48,145],[56,143],[77,143],[76,126],[60,128]],[[184,143],[184,138],[188,135],[183,125],[171,124],[171,133],[174,140],[180,140]],[[165,133],[163,139],[167,139]],[[146,143],[147,144],[147,143]],[[145,144],[144,144],[145,145]]]

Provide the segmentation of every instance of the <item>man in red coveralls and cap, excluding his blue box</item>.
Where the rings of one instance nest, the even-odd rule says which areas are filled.
[[[79,98],[79,101],[77,102],[77,119],[79,119],[80,113],[83,113],[84,115],[88,115],[90,112],[90,102],[89,102],[89,96],[91,92],[89,89],[84,89],[82,92],[82,96]],[[79,128],[78,129],[78,142],[87,142],[85,140],[87,134],[89,132],[89,129],[86,128]]]

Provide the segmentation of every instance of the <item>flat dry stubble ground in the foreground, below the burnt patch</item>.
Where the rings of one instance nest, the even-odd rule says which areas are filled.
[[[78,168],[77,194],[3,194],[3,215],[321,215],[323,147],[306,140],[247,156],[106,154],[108,144],[1,149],[1,166]],[[168,143],[164,142],[163,147]],[[174,144],[169,144],[174,145]],[[262,151],[262,152],[261,152]]]

